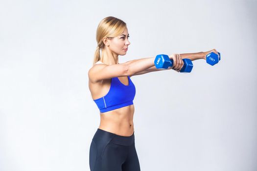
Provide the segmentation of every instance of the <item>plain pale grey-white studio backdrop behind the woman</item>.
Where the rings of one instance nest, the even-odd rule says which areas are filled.
[[[213,48],[132,77],[142,171],[257,171],[257,1],[10,0],[0,4],[0,171],[89,171],[98,23],[127,23],[119,62]]]

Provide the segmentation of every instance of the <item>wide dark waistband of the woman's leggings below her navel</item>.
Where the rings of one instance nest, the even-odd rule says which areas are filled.
[[[93,141],[100,140],[100,141],[106,141],[106,142],[110,142],[110,143],[114,143],[122,146],[130,146],[135,142],[134,132],[131,136],[121,136],[121,135],[117,135],[115,133],[97,128],[93,136]]]

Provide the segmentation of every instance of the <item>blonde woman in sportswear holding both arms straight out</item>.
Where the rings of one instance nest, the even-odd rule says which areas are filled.
[[[100,126],[90,146],[91,171],[140,171],[133,125],[136,88],[131,77],[159,69],[154,65],[155,57],[118,63],[118,55],[128,50],[128,37],[126,23],[115,17],[98,24],[98,46],[88,73],[91,95],[100,110]],[[183,58],[205,59],[205,53],[173,54],[169,58],[174,64],[168,69],[179,72]]]

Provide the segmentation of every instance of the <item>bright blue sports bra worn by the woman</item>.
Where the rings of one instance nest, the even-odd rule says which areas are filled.
[[[95,64],[101,63],[98,61]],[[121,107],[133,105],[133,100],[136,95],[136,87],[128,76],[129,85],[122,84],[117,77],[112,78],[111,87],[108,93],[93,100],[100,112],[107,112]]]

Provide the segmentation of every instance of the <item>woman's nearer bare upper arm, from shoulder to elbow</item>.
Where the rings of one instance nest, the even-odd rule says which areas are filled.
[[[122,77],[129,75],[128,64],[95,64],[88,72],[89,78],[92,82],[98,82],[104,79],[111,79],[114,77]]]

